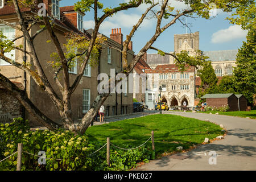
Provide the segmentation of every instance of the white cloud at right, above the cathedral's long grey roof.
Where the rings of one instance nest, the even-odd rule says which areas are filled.
[[[247,35],[247,31],[242,30],[241,26],[234,25],[229,28],[219,30],[212,35],[212,43],[225,43],[234,39],[242,39]]]

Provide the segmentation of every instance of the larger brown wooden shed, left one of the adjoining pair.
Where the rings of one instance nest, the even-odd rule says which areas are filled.
[[[233,93],[225,94],[205,94],[201,98],[206,98],[208,106],[220,107],[224,105],[229,105],[228,111],[238,110],[238,98]]]

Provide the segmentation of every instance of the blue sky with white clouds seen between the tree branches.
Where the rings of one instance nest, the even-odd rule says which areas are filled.
[[[60,1],[60,6],[72,6],[77,1],[78,0],[62,0]],[[104,4],[104,7],[113,8],[125,1],[129,0],[102,0],[100,2]],[[176,0],[171,0],[171,6],[179,10],[185,9],[186,7],[184,3]],[[122,28],[123,38],[125,39],[138,19],[141,18],[146,8],[147,5],[141,5],[138,8],[125,10],[113,15],[101,24],[100,33],[109,36],[112,28]],[[85,30],[94,27],[93,15],[93,11],[85,13]],[[242,30],[240,26],[230,24],[228,20],[225,20],[227,16],[229,16],[228,13],[218,10],[217,16],[212,19],[187,18],[187,23],[191,24],[191,32],[200,32],[200,49],[202,51],[238,49],[242,46],[242,42],[246,41],[247,31]],[[163,24],[167,22],[168,20],[164,20]],[[151,36],[154,35],[155,24],[156,19],[145,19],[138,31],[135,32],[132,38],[133,51],[135,53],[138,53],[148,40],[150,40]],[[177,21],[164,31],[152,46],[164,52],[172,52],[174,51],[174,34],[185,34],[186,32],[190,32],[189,29],[187,28],[186,30],[183,24]],[[149,50],[148,53],[156,53],[156,51]]]

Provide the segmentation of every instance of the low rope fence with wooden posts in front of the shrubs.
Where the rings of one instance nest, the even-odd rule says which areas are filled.
[[[143,144],[141,144],[140,146],[138,147],[135,147],[135,148],[122,148],[122,147],[118,147],[118,146],[115,146],[113,143],[110,142],[110,138],[107,138],[107,143],[104,144],[104,146],[100,147],[97,151],[94,151],[92,154],[89,154],[88,156],[91,156],[93,154],[96,154],[98,151],[102,150],[102,148],[104,148],[105,146],[107,146],[107,163],[108,163],[108,166],[110,166],[110,144],[115,147],[115,148],[118,148],[120,150],[135,150],[139,147],[142,147],[144,146],[144,144],[146,144],[149,140],[152,140],[152,150],[155,151],[155,142],[154,142],[154,131],[151,132],[151,137],[147,139],[146,142],[144,142]],[[39,156],[39,155],[35,155],[35,154],[31,154],[30,152],[27,152],[27,151],[23,151],[23,148],[22,148],[22,143],[18,143],[18,151],[14,152],[13,154],[11,154],[10,156],[7,156],[7,158],[5,159],[2,159],[0,160],[0,163],[3,162],[4,160],[6,159],[9,159],[11,156],[15,155],[18,153],[18,159],[17,159],[17,171],[20,171],[21,169],[21,164],[22,164],[22,153],[25,153],[25,154],[28,154],[28,155],[32,155],[32,156],[36,156],[38,158],[41,158],[41,159],[49,159],[49,160],[64,160],[64,159],[53,159],[53,158],[46,158],[44,156]],[[86,158],[87,156],[84,156],[83,158]],[[80,159],[83,159],[83,158],[80,158]]]

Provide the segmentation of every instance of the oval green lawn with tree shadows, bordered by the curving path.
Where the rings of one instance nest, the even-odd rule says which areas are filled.
[[[158,114],[143,118],[127,119],[100,126],[89,127],[86,135],[91,142],[110,142],[115,146],[137,147],[146,142],[155,131],[156,154],[172,152],[178,146],[188,149],[193,144],[203,143],[205,137],[213,139],[222,134],[221,128],[210,122],[177,115]],[[147,143],[151,146],[151,142]]]

